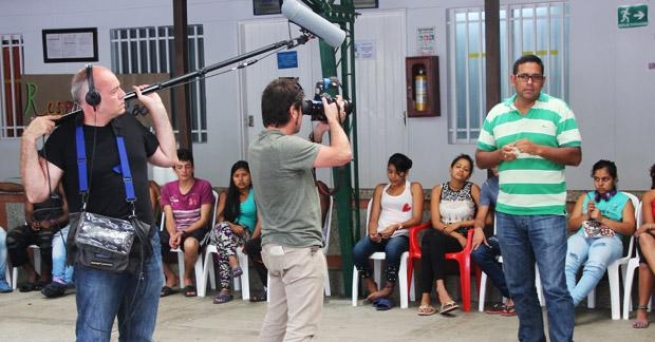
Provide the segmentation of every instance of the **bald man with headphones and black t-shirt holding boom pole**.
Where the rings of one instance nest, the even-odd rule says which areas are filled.
[[[42,202],[61,180],[71,212],[83,210],[86,202],[87,212],[110,218],[126,219],[136,213],[138,220],[154,232],[147,162],[162,167],[175,165],[175,137],[160,97],[142,95],[143,87],[133,88],[152,115],[156,135],[132,115],[125,115],[125,92],[111,70],[88,65],[73,76],[71,93],[83,114],[62,122],[56,130],[58,116],[37,117],[23,132],[21,177],[28,200]],[[119,133],[126,146],[127,163],[119,158]],[[50,137],[39,152],[37,141],[45,135]],[[76,147],[80,146],[86,153],[78,153]],[[80,165],[85,164],[88,172],[80,173],[84,168],[78,165],[78,155],[86,157],[86,163]],[[88,177],[80,177],[84,174]],[[85,178],[88,186],[80,181]],[[129,180],[136,197],[133,205],[126,201]],[[80,193],[84,187],[88,189],[86,195]],[[78,341],[109,341],[116,317],[121,341],[152,341],[163,283],[158,234],[152,234],[151,244],[150,257],[143,258],[142,254],[145,260],[140,261],[140,272],[75,264]]]

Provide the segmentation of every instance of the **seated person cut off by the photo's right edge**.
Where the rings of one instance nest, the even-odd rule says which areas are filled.
[[[639,254],[639,303],[635,329],[648,328],[648,301],[655,285],[655,164],[650,168],[651,190],[644,193],[642,217],[644,223],[637,229],[637,253]]]

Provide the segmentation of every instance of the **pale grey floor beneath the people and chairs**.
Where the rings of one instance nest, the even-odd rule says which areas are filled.
[[[237,295],[230,303],[215,305],[211,295],[185,298],[175,294],[163,298],[155,339],[257,341],[266,304],[244,303]],[[378,312],[370,305],[352,307],[347,299],[332,298],[324,307],[320,341],[516,341],[515,317],[477,311],[419,317],[416,305],[413,303],[408,310]],[[1,341],[72,341],[74,330],[73,294],[54,300],[46,300],[38,292],[0,294]],[[118,340],[116,332],[112,340]],[[632,329],[629,321],[610,320],[608,309],[579,308],[575,340],[654,341],[655,324],[649,329]]]

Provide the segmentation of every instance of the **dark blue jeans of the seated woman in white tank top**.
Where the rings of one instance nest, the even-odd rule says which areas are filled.
[[[362,277],[370,278],[372,270],[368,258],[375,252],[385,252],[387,258],[387,282],[395,284],[398,280],[400,257],[407,250],[409,250],[409,238],[406,235],[392,237],[382,240],[379,243],[373,242],[367,235],[359,240],[353,248],[353,262]]]

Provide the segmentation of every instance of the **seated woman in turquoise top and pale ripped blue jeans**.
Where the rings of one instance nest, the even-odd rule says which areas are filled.
[[[635,208],[616,190],[616,164],[599,160],[591,169],[596,190],[580,195],[569,217],[566,252],[566,286],[578,305],[603,277],[607,266],[623,254],[623,236],[635,231]],[[582,277],[576,283],[580,266]]]

